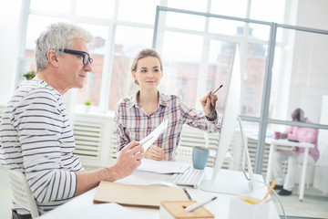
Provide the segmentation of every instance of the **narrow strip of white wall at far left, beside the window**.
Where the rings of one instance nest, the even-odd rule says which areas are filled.
[[[0,0],[0,103],[6,103],[14,92],[21,2]]]

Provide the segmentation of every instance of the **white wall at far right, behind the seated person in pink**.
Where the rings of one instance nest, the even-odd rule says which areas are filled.
[[[328,30],[327,21],[327,0],[299,0],[296,26]],[[306,117],[319,123],[322,97],[328,94],[328,36],[297,31],[293,54],[288,115],[302,108]]]

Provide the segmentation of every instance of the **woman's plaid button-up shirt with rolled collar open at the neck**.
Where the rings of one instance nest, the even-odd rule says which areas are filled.
[[[175,95],[159,93],[159,107],[151,115],[148,115],[138,104],[138,92],[118,101],[114,119],[118,151],[122,150],[130,141],[142,140],[166,119],[169,119],[168,129],[154,144],[165,151],[168,160],[174,158],[183,124],[207,132],[220,130],[218,117],[213,121],[207,120],[203,112],[188,107]]]

